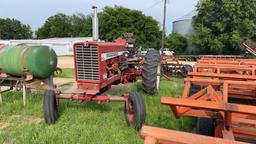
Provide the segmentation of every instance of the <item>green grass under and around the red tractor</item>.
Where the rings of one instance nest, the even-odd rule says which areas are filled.
[[[179,97],[183,90],[182,79],[163,80],[161,90],[155,96],[144,94],[147,106],[146,124],[150,126],[192,131],[194,120],[176,119],[168,106],[160,104],[162,96]],[[125,88],[118,93],[141,91],[141,83],[132,90]],[[96,143],[96,144],[140,144],[143,140],[139,132],[126,125],[123,103],[81,103],[61,100],[61,116],[54,125],[43,121],[42,94],[30,94],[26,107],[22,105],[22,94],[9,92],[4,95],[4,104],[0,106],[1,122],[9,126],[0,129],[0,143]],[[31,119],[41,118],[38,124]]]

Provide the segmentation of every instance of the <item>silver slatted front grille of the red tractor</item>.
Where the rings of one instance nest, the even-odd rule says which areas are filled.
[[[78,80],[99,80],[99,62],[97,47],[76,48],[76,66]]]

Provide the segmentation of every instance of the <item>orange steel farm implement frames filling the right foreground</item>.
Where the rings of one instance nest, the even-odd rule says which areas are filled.
[[[163,97],[176,118],[197,118],[197,134],[143,126],[145,144],[242,144],[256,140],[256,61],[202,59],[181,98]]]

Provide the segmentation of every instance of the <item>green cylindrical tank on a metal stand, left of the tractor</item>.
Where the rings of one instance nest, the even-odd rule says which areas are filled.
[[[23,90],[23,104],[29,89],[53,89],[52,73],[57,66],[57,56],[48,46],[6,46],[0,48],[0,102],[1,94]],[[2,90],[2,87],[7,87]]]

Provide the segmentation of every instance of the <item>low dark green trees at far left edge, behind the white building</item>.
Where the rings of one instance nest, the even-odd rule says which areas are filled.
[[[32,38],[29,25],[22,24],[16,19],[0,19],[0,39],[28,39]]]

